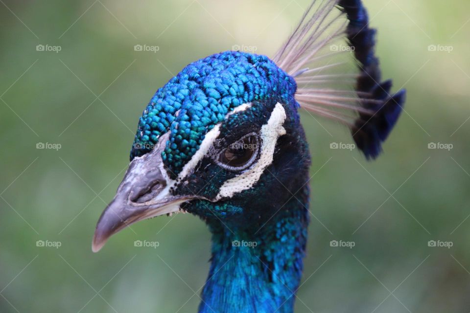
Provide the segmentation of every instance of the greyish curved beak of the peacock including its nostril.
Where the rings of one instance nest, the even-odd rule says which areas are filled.
[[[141,220],[178,212],[180,204],[194,197],[171,194],[173,181],[166,175],[161,152],[167,140],[164,135],[152,152],[136,157],[129,164],[113,201],[96,224],[92,250],[99,251],[119,230]]]

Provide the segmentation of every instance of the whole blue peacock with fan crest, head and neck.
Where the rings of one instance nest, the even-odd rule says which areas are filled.
[[[299,111],[351,131],[375,159],[405,90],[391,93],[360,0],[314,0],[272,58],[225,51],[184,67],[143,111],[130,164],[93,251],[176,212],[211,231],[200,313],[291,313],[309,223],[310,155]]]

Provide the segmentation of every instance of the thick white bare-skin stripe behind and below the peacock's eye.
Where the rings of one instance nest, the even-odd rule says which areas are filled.
[[[261,148],[258,161],[247,171],[226,180],[219,189],[215,201],[225,197],[232,197],[236,193],[253,187],[259,180],[266,167],[273,162],[274,148],[278,137],[285,134],[282,127],[286,115],[281,103],[277,103],[267,124],[261,127]]]

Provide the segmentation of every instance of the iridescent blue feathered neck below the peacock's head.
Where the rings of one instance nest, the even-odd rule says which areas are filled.
[[[200,313],[293,312],[305,255],[308,187],[296,198],[257,227],[208,222],[212,258]]]

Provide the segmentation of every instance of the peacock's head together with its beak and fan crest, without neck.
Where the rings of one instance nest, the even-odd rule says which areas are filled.
[[[376,158],[405,90],[391,94],[382,81],[375,37],[360,0],[313,1],[272,60],[227,51],[185,67],[144,110],[93,250],[129,224],[179,211],[232,229],[271,219],[308,183],[300,107],[347,125]]]

